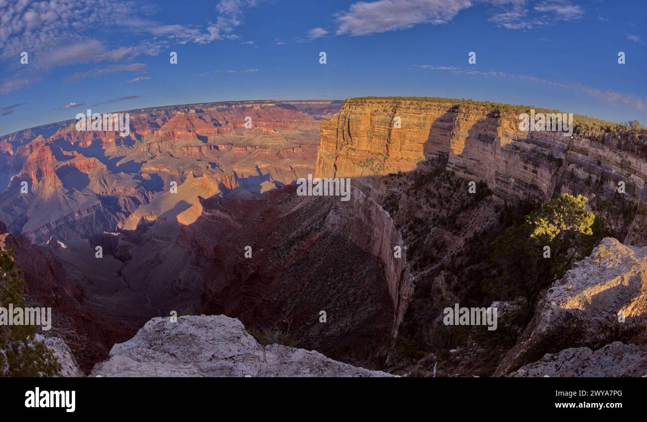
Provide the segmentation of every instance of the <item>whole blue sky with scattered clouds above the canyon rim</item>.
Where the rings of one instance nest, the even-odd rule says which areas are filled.
[[[353,96],[644,124],[646,12],[642,0],[0,0],[0,135],[88,108]]]

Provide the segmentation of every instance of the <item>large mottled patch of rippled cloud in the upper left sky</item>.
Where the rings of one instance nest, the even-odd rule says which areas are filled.
[[[150,16],[154,10],[140,0],[0,0],[0,59],[13,61],[27,51],[30,71],[38,73],[93,61],[123,62],[140,54],[157,56],[171,42],[205,44],[218,39],[236,39],[234,30],[243,24],[247,10],[262,1],[265,0],[220,0],[215,10],[212,9],[215,23],[181,25],[133,18]],[[94,39],[91,34],[97,27],[151,37],[140,40],[137,45],[118,45],[123,37],[114,36],[107,41]],[[15,68],[13,76],[9,72],[5,75],[5,82],[0,83],[0,94],[39,80],[25,78]],[[71,79],[89,76],[93,74],[77,73]],[[12,78],[14,80],[10,80]]]

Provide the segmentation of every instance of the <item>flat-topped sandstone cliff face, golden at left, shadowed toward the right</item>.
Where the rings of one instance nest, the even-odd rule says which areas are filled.
[[[635,186],[636,193],[645,186],[647,162],[617,151],[611,142],[520,131],[518,124],[514,117],[452,100],[347,100],[322,122],[316,175],[408,172],[426,158],[446,154],[449,170],[486,181],[502,199],[545,200],[562,192],[590,199],[615,194],[619,181]]]

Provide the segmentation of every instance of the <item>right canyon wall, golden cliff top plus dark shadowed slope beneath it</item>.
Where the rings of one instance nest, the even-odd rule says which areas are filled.
[[[625,140],[609,134],[520,131],[517,117],[490,103],[357,98],[322,122],[316,176],[352,177],[390,214],[408,248],[415,289],[398,331],[399,350],[391,353],[398,357],[394,363],[433,351],[443,356],[442,375],[495,372],[524,328],[523,315],[488,336],[447,329],[442,310],[501,300],[492,284],[498,269],[488,259],[490,243],[539,203],[562,193],[585,195],[609,234],[647,245],[640,211],[647,161],[638,150],[626,149]],[[468,194],[469,181],[479,183],[475,194]],[[620,182],[624,193],[618,193]],[[523,313],[528,306],[516,309]],[[547,352],[540,349],[516,368]]]

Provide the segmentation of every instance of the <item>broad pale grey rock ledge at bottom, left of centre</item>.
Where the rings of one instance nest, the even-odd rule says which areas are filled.
[[[236,318],[153,318],[115,344],[92,377],[391,377],[280,344],[261,346]]]

